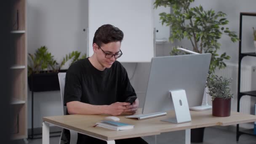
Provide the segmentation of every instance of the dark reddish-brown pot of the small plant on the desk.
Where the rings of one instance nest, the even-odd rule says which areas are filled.
[[[215,98],[213,100],[213,116],[229,117],[231,111],[231,98],[221,99]]]

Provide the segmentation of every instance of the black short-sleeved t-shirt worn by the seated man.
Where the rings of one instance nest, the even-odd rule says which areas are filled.
[[[64,105],[70,101],[109,105],[123,102],[129,96],[136,96],[136,93],[125,68],[118,61],[112,67],[100,71],[86,58],[75,62],[67,70]],[[69,135],[67,131],[66,134]],[[78,134],[77,144],[84,143],[86,139],[88,136]]]

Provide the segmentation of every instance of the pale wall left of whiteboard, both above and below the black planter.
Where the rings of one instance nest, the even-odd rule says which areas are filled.
[[[88,12],[86,0],[27,0],[28,53],[42,45],[57,62],[71,51],[86,51]],[[62,69],[67,69],[66,64]],[[60,92],[34,93],[34,127],[42,117],[61,115]],[[28,128],[31,128],[31,92],[28,91]]]

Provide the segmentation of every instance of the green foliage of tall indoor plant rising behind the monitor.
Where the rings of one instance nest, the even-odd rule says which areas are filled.
[[[214,72],[216,67],[222,69],[226,67],[224,59],[230,59],[226,53],[220,56],[217,51],[221,44],[218,40],[223,34],[228,35],[232,42],[238,39],[235,32],[225,27],[229,21],[225,18],[226,14],[212,9],[205,11],[203,7],[190,7],[190,3],[195,0],[155,0],[155,8],[158,6],[169,6],[173,13],[160,13],[162,24],[171,27],[171,36],[169,40],[183,40],[187,38],[193,51],[197,53],[212,53],[210,73]],[[172,54],[177,53],[176,48]]]

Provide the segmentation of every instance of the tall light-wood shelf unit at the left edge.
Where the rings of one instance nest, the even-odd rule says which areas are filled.
[[[27,139],[27,33],[26,8],[27,0],[12,0],[11,37],[15,59],[13,74],[11,107],[12,139]]]

